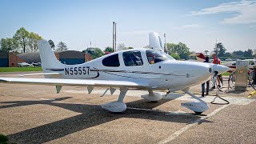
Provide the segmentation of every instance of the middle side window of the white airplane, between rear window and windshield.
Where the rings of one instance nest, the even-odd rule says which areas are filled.
[[[140,51],[126,51],[122,53],[123,62],[126,66],[142,66],[142,54]]]

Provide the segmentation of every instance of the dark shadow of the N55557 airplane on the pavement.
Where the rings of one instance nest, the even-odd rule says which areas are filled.
[[[124,113],[114,114],[106,110],[102,110],[99,105],[88,104],[71,104],[61,103],[60,101],[72,97],[56,98],[54,101],[13,101],[1,103],[13,103],[7,106],[0,106],[0,109],[16,106],[29,106],[35,104],[43,104],[50,106],[58,106],[66,110],[72,110],[77,113],[82,113],[74,117],[65,118],[56,122],[51,122],[46,125],[37,126],[29,130],[24,130],[16,134],[10,134],[8,137],[12,142],[18,143],[42,143],[49,142],[57,138],[62,138],[67,134],[72,134],[80,130],[85,130],[92,126],[98,126],[102,123],[114,121],[118,118],[141,118],[163,122],[179,122],[189,124],[199,120],[198,115],[193,114],[169,114],[169,112],[161,110],[151,110],[155,106],[162,105],[170,100],[162,99],[159,102],[146,102],[138,100],[127,102],[129,107],[140,107],[141,109],[128,108]],[[144,110],[143,110],[144,109]],[[145,110],[146,109],[146,110]]]

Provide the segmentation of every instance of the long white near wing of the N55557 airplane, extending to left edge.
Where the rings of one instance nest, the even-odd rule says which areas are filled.
[[[128,89],[149,89],[150,86],[142,82],[128,81],[107,81],[107,80],[87,80],[87,79],[60,79],[60,78],[1,78],[2,83],[23,83],[52,86],[106,86],[106,87],[126,87]]]

